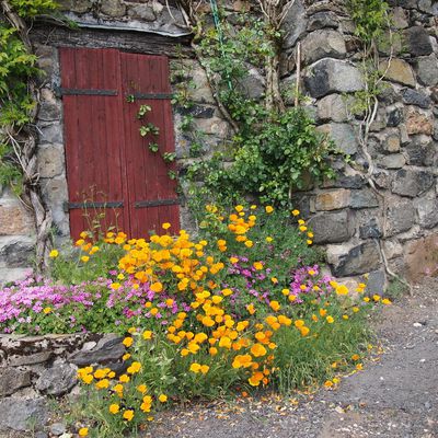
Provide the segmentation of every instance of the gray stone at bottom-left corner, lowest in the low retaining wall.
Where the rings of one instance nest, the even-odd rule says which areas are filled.
[[[48,419],[47,402],[44,397],[0,399],[0,429],[30,430],[31,425],[37,429]]]

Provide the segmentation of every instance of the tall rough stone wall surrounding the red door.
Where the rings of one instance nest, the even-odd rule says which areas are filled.
[[[359,119],[349,114],[348,99],[345,97],[364,88],[359,48],[353,34],[354,25],[339,3],[336,0],[295,1],[285,20],[287,34],[281,85],[285,90],[291,89],[297,80],[295,54],[297,43],[300,43],[302,91],[311,100],[309,110],[315,115],[319,129],[327,132],[359,166],[366,168],[357,137]],[[168,55],[174,84],[191,79],[196,84],[192,90],[195,105],[191,113],[194,126],[203,132],[201,153],[208,155],[230,136],[205,72],[191,53],[188,31],[174,3],[168,8],[164,1],[65,0],[62,4],[68,16],[79,24],[78,31],[47,24],[32,31],[39,66],[46,71],[38,115],[38,169],[43,193],[54,212],[58,239],[69,235],[68,214],[62,208],[68,197],[62,105],[55,92],[60,82],[58,47],[119,47]],[[227,7],[230,18],[242,9],[242,4],[230,2]],[[390,4],[399,43],[387,72],[387,87],[380,97],[369,142],[376,165],[374,180],[384,200],[370,189],[360,172],[345,163],[336,164],[339,174],[336,181],[295,195],[296,206],[314,230],[314,242],[327,249],[334,275],[370,274],[370,286],[376,291],[380,291],[385,281],[379,242],[390,267],[402,274],[408,272],[414,278],[415,274],[414,269],[407,269],[413,266],[413,260],[423,270],[436,269],[430,252],[436,251],[434,235],[438,226],[438,5],[431,0],[392,0]],[[182,60],[176,56],[176,44],[182,44]],[[388,56],[381,55],[384,62]],[[255,68],[250,70],[247,84],[251,84],[247,92],[255,96],[264,91],[263,77]],[[182,168],[194,159],[193,138],[180,128],[184,112],[177,108],[174,112],[176,154]],[[0,218],[12,214],[3,206],[21,208],[18,201],[13,203],[8,193],[0,197]],[[24,211],[22,216],[21,223],[32,223]],[[189,215],[184,208],[182,224],[189,226]],[[0,222],[0,281],[1,269],[7,266],[16,266],[14,269],[28,266],[24,262],[28,255],[26,251],[31,252],[28,235],[32,235],[32,227],[10,231]],[[5,249],[11,240],[20,242],[13,247],[23,247],[15,258],[14,253],[11,255]],[[426,250],[425,244],[428,245]]]

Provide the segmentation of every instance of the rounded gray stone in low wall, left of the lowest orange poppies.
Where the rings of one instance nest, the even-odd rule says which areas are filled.
[[[44,370],[35,388],[49,395],[64,395],[77,383],[76,370],[69,364],[56,364]]]

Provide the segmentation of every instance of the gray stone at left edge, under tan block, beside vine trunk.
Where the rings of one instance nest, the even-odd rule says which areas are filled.
[[[35,240],[27,237],[0,237],[0,267],[25,267],[35,253]]]

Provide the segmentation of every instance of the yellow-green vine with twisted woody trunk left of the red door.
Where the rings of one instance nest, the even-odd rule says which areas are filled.
[[[36,168],[32,122],[37,111],[38,74],[26,22],[56,9],[53,0],[1,0],[0,19],[0,184],[9,185],[34,211],[36,268],[48,262],[51,215],[45,206]]]

